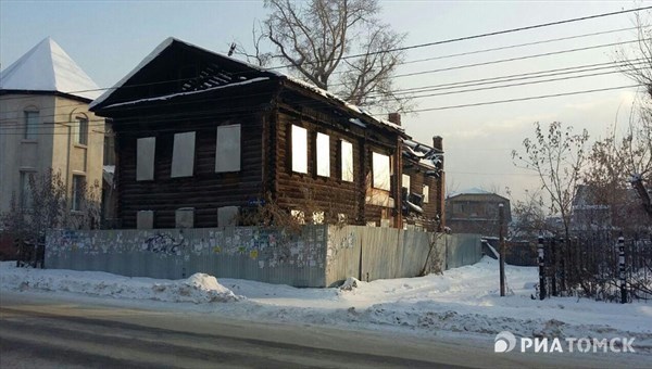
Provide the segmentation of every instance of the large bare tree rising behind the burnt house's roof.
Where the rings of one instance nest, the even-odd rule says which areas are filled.
[[[406,109],[410,98],[391,79],[405,35],[376,17],[377,0],[266,0],[265,7],[271,13],[254,28],[250,61],[288,64],[301,79],[360,106]],[[261,52],[263,40],[275,51]]]

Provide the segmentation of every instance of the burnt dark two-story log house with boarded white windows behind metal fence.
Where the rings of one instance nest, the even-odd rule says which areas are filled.
[[[170,38],[91,111],[113,122],[122,228],[222,227],[263,202],[403,226],[403,129],[280,73]]]

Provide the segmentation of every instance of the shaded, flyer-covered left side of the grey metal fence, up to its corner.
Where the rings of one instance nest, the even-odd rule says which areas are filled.
[[[179,279],[195,272],[296,287],[324,287],[326,227],[301,234],[255,227],[58,231],[46,266]]]

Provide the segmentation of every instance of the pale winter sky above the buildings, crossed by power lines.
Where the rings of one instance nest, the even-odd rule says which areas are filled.
[[[638,2],[638,5],[649,5]],[[408,33],[405,44],[524,27],[631,9],[632,1],[383,1],[384,22]],[[251,28],[266,14],[262,1],[0,1],[0,63],[5,68],[43,38],[52,37],[100,86],[110,87],[165,38],[226,53],[248,44]],[[630,27],[631,14],[576,22],[536,30],[410,50],[408,61]],[[402,65],[399,74],[482,63],[564,49],[630,40],[619,31],[466,56]],[[400,77],[401,88],[474,80],[543,69],[605,63],[614,48],[573,52],[482,67]],[[417,99],[417,109],[515,99],[629,85],[619,74],[560,82]],[[424,112],[403,117],[408,133],[430,143],[442,136],[449,190],[480,187],[519,198],[537,187],[536,177],[512,165],[511,150],[532,132],[532,123],[561,120],[589,128],[593,137],[627,120],[634,90]]]

